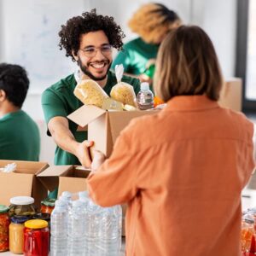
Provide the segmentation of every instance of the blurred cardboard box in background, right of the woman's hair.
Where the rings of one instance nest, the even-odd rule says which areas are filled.
[[[220,92],[219,105],[235,111],[241,111],[242,83],[239,78],[232,78],[225,81]]]

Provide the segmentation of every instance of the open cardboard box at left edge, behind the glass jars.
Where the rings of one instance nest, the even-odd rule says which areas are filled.
[[[5,173],[0,172],[0,204],[9,206],[11,197],[19,195],[32,196],[35,199],[35,205],[47,197],[47,190],[36,177],[48,167],[46,162],[31,162],[18,160],[0,160],[0,168],[16,163],[16,171]]]

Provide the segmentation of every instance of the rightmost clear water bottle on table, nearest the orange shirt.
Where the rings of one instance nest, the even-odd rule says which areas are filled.
[[[120,206],[103,208],[100,229],[100,255],[119,256],[121,251],[121,236],[122,208]]]

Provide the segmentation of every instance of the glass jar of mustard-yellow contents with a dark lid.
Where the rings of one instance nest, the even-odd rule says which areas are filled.
[[[29,217],[12,217],[9,225],[9,251],[11,253],[22,254],[24,245],[24,223]]]

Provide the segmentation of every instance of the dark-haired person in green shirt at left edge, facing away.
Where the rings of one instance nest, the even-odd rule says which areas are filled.
[[[21,110],[28,88],[23,67],[0,64],[0,160],[39,160],[38,125]]]

